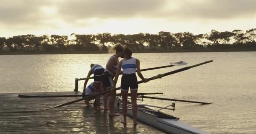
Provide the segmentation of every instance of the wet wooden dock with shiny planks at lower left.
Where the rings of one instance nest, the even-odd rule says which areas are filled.
[[[74,95],[80,92],[23,93],[31,95]],[[21,93],[20,93],[21,94]],[[19,93],[0,94],[0,134],[162,134],[162,131],[141,122],[134,127],[131,118],[121,124],[123,115],[109,118],[104,111],[86,108],[83,101],[50,108],[80,97],[18,98]]]

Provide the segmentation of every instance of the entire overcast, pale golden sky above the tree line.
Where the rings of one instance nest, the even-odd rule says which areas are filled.
[[[192,26],[202,21],[205,27],[214,27],[212,20],[216,25],[224,21],[250,21],[256,17],[255,5],[256,0],[1,0],[0,29],[24,33],[61,31],[133,20],[141,20],[151,28],[157,27],[152,24],[155,21],[162,21],[165,27],[171,23]]]

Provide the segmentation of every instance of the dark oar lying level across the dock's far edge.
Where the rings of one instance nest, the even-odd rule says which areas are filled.
[[[163,93],[137,93],[137,95],[156,95],[156,94],[163,94]],[[128,95],[131,95],[130,93]],[[90,95],[85,95],[88,97]],[[120,93],[117,96],[121,96]],[[18,95],[19,98],[52,98],[52,97],[82,97],[82,95]]]

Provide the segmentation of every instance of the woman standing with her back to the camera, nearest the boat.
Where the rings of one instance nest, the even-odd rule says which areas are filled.
[[[137,90],[138,90],[138,81],[136,77],[136,69],[137,74],[144,82],[148,82],[146,78],[143,77],[140,71],[140,62],[139,59],[131,57],[132,50],[128,47],[125,47],[123,51],[123,57],[118,64],[117,71],[115,74],[114,86],[112,91],[115,91],[115,86],[117,84],[118,76],[120,74],[121,68],[123,68],[123,76],[121,80],[121,94],[122,94],[122,106],[123,106],[123,124],[126,124],[126,115],[127,115],[127,97],[128,90],[131,89],[131,103],[132,103],[132,111],[133,111],[133,124],[137,124]]]

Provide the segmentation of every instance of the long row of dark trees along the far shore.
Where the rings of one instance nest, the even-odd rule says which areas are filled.
[[[75,34],[68,36],[32,34],[0,37],[0,51],[106,51],[107,46],[117,42],[133,50],[199,50],[199,49],[256,49],[256,28],[247,31],[234,30],[193,35],[189,32],[170,33],[160,31],[158,34]]]

